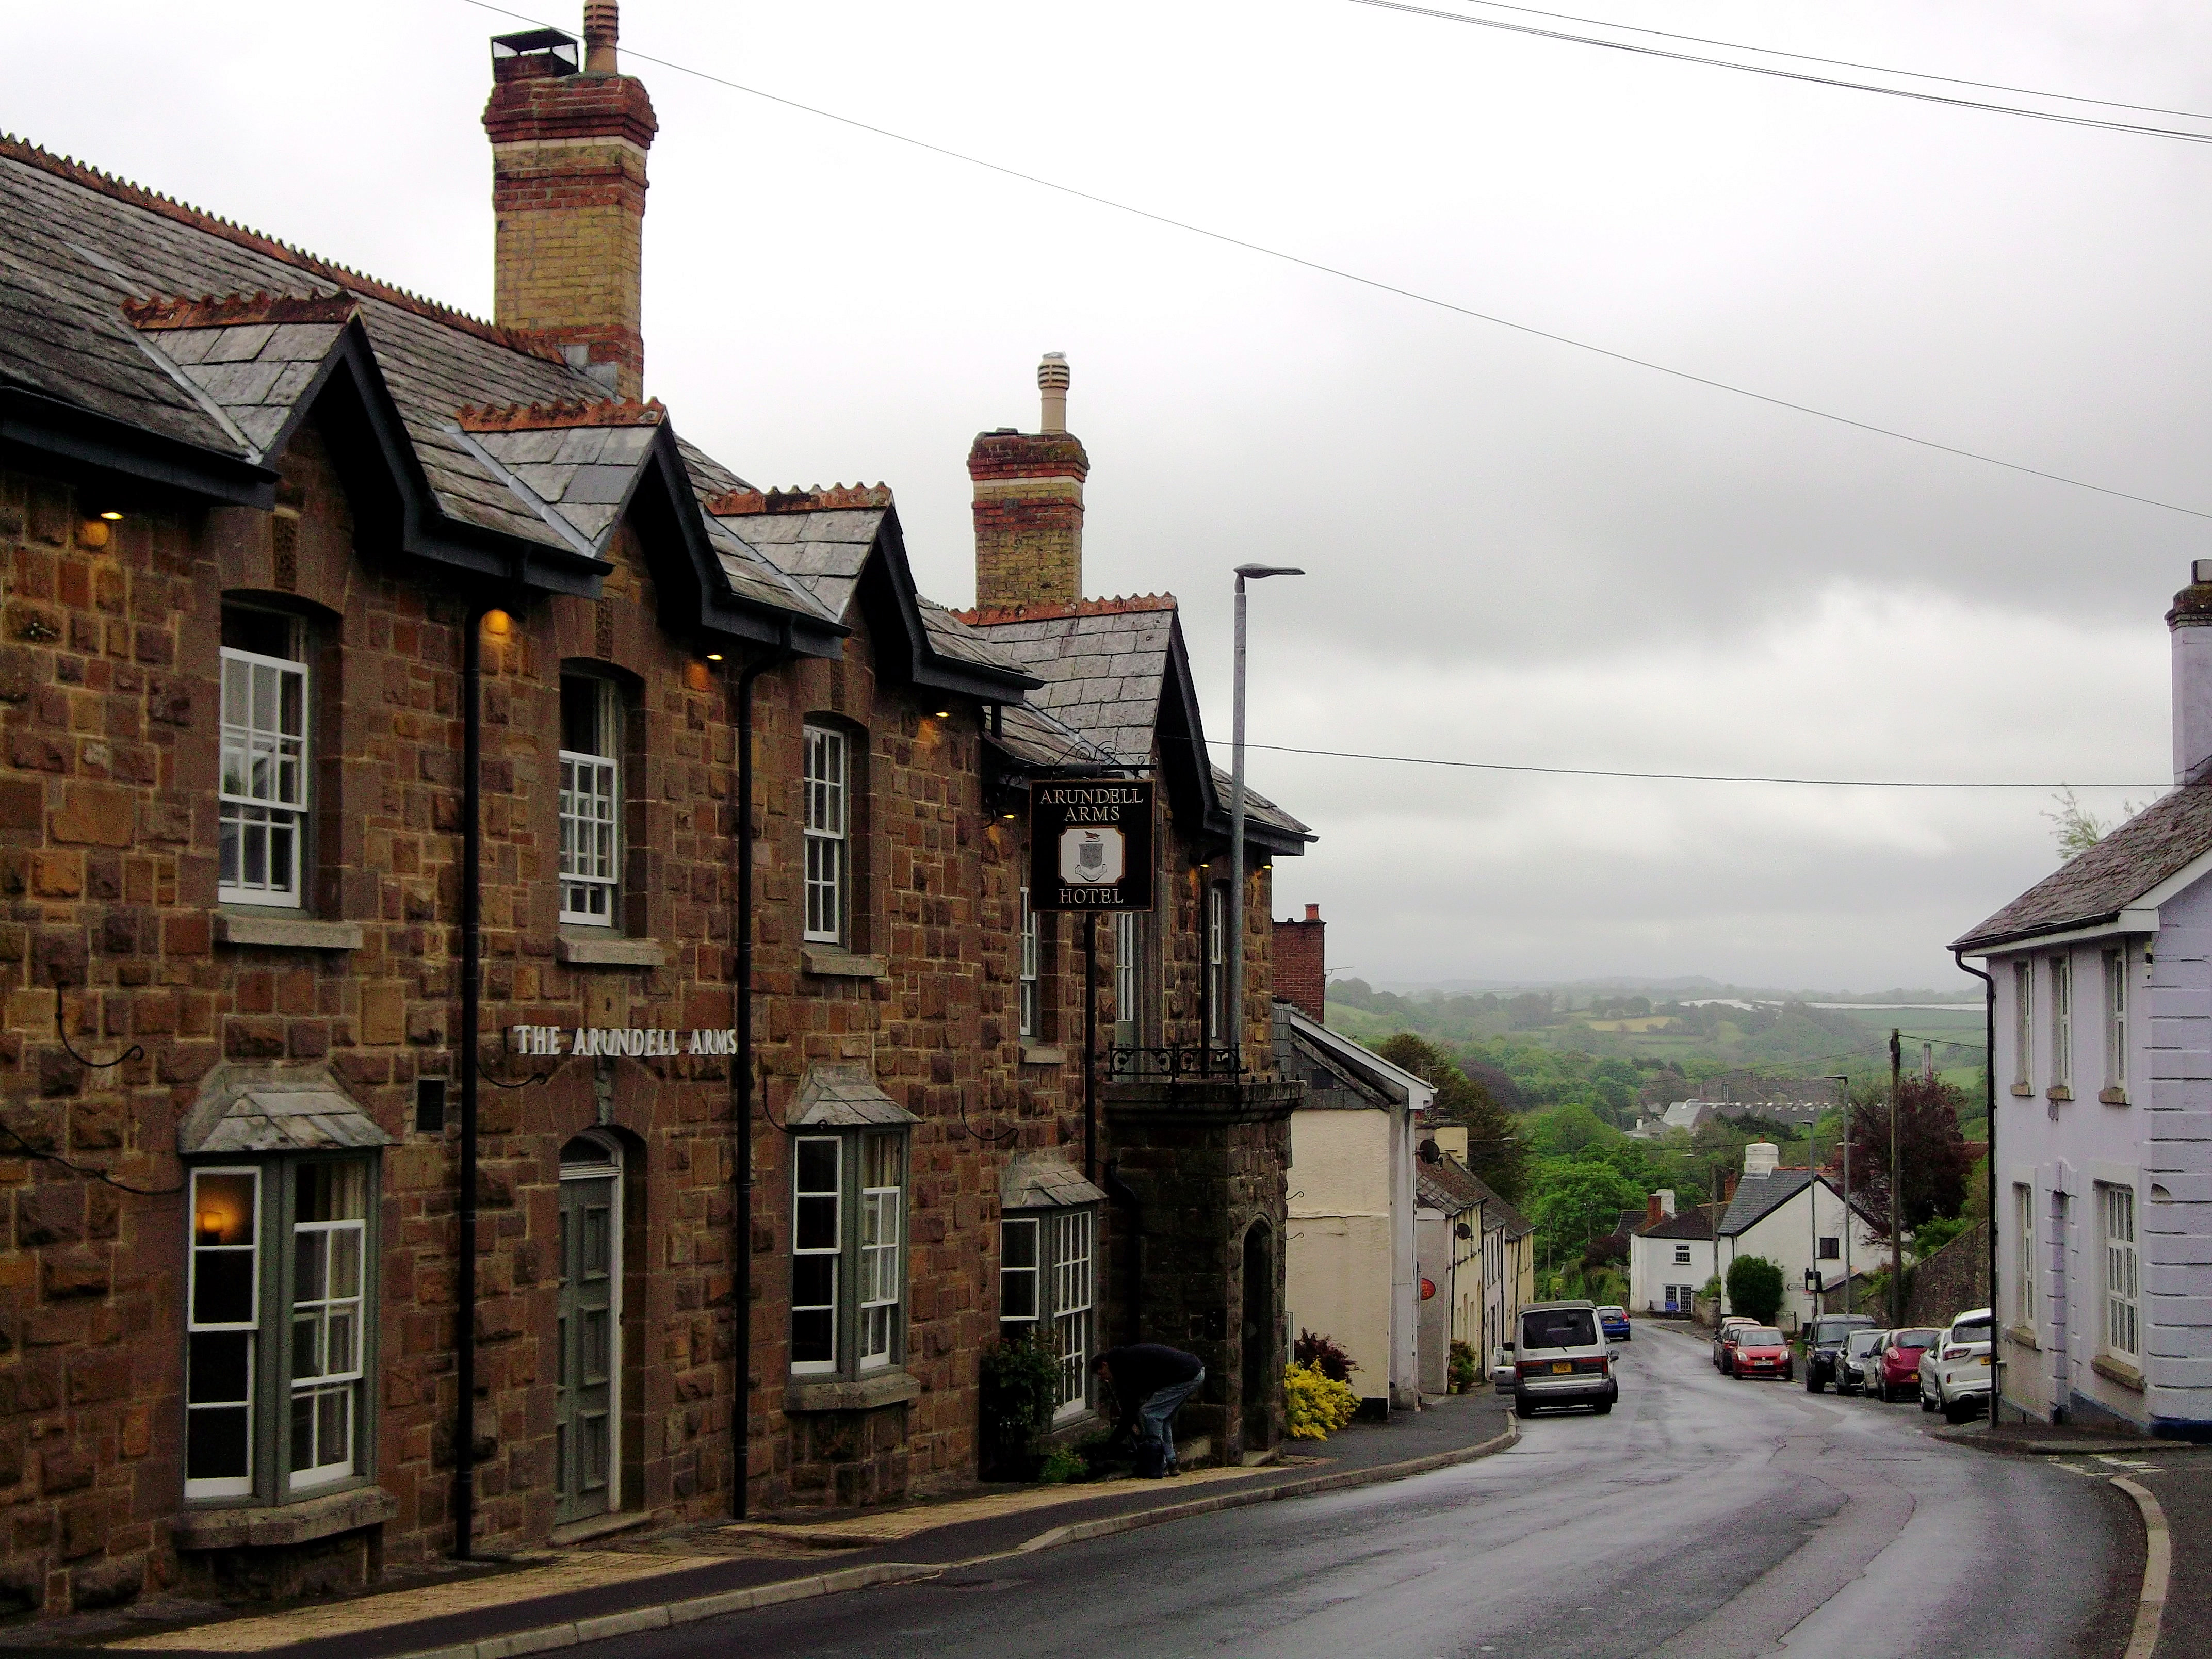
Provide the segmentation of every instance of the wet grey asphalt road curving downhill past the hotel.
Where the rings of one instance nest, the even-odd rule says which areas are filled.
[[[2124,1500],[1639,1325],[1610,1418],[1418,1480],[595,1644],[661,1655],[2117,1655]],[[2117,1593],[2106,1608],[2108,1588]],[[2119,1632],[2115,1639],[2115,1630]]]

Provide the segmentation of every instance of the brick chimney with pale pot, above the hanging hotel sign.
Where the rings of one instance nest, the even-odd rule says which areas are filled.
[[[1068,361],[1037,365],[1040,431],[975,434],[975,606],[1075,604],[1084,597],[1084,480],[1091,456],[1068,434]],[[1318,1018],[1318,1015],[1316,1015]]]

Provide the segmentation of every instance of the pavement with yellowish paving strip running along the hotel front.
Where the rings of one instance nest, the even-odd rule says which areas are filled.
[[[876,1511],[626,1533],[279,1610],[148,1601],[119,1615],[18,1626],[0,1641],[0,1652],[53,1659],[53,1644],[66,1644],[159,1659],[431,1652],[502,1659],[838,1590],[931,1579],[978,1559],[1035,1555],[1190,1515],[1400,1480],[1484,1455],[1511,1436],[1511,1400],[1482,1389],[1418,1413],[1396,1413],[1389,1422],[1340,1429],[1325,1442],[1290,1440],[1281,1462],[1256,1469],[1194,1469],[1172,1480],[1079,1486],[982,1486]]]

